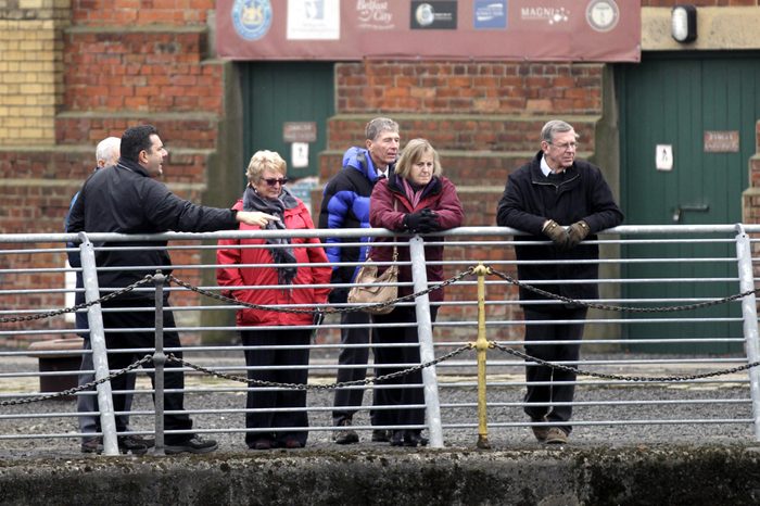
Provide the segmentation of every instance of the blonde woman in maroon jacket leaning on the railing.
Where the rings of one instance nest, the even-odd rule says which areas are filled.
[[[445,177],[441,176],[441,162],[438,152],[425,139],[413,139],[404,148],[396,163],[395,172],[390,179],[381,180],[375,186],[369,202],[369,223],[372,227],[388,228],[398,232],[429,233],[459,227],[465,214],[456,193],[456,188]],[[403,240],[403,238],[401,238]],[[378,238],[372,246],[371,255],[376,262],[390,262],[393,248],[379,246],[378,243],[395,241],[394,238]],[[440,238],[431,238],[441,241]],[[442,245],[425,246],[425,257],[428,261],[428,281],[443,280],[443,267],[431,265],[443,258]],[[409,249],[398,248],[398,262],[409,261]],[[398,270],[398,281],[411,281],[411,267],[403,265]],[[398,294],[413,292],[410,287],[400,287]],[[430,302],[441,302],[443,290],[430,293]],[[431,305],[430,318],[435,321],[438,306]],[[417,316],[414,306],[397,306],[388,315],[373,316],[376,324],[411,324],[402,328],[378,327],[375,329],[375,341],[378,344],[418,343]],[[379,375],[389,375],[401,368],[394,364],[419,364],[419,346],[376,347],[375,365]],[[376,392],[378,406],[420,405],[425,404],[422,393],[422,374],[415,371],[398,378],[385,380],[389,384],[419,384],[415,388],[381,388]],[[389,426],[420,426],[425,423],[423,408],[378,409],[378,425]],[[421,443],[420,429],[394,430],[391,437],[393,446],[417,446]]]

